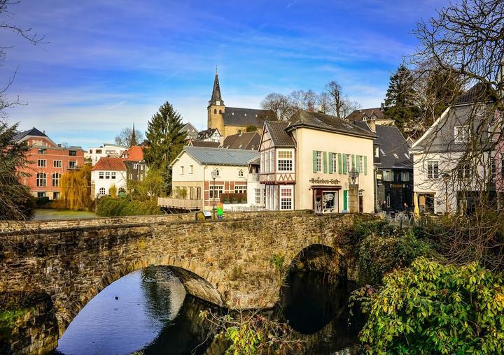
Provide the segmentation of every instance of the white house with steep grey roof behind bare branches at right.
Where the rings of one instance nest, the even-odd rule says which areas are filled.
[[[490,151],[488,145],[477,147],[471,164],[461,161],[468,144],[474,144],[474,132],[479,132],[480,142],[489,142],[489,134],[496,131],[496,122],[484,124],[494,114],[492,103],[479,105],[475,115],[475,100],[482,94],[479,90],[481,87],[476,85],[462,94],[410,149],[414,204],[419,212],[470,212],[481,194],[489,194],[490,198],[496,194],[495,151]],[[486,186],[482,182],[487,181],[488,189],[482,191],[482,186]]]

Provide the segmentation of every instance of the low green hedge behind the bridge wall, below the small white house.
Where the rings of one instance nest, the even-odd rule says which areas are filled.
[[[160,215],[158,204],[153,201],[137,201],[128,198],[112,198],[104,196],[97,205],[97,215],[112,216],[141,216]]]

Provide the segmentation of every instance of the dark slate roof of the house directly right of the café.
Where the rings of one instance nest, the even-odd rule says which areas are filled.
[[[371,132],[365,122],[354,122],[356,126]],[[413,168],[412,157],[409,155],[409,145],[396,126],[376,125],[374,144],[379,145],[381,150],[380,163],[382,169]]]

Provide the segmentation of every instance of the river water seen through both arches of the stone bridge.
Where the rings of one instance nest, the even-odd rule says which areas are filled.
[[[331,354],[356,344],[348,326],[352,284],[331,284],[321,273],[293,272],[272,317],[288,321],[306,354]],[[198,314],[213,308],[186,294],[169,268],[137,270],[90,300],[69,324],[55,354],[222,354]]]

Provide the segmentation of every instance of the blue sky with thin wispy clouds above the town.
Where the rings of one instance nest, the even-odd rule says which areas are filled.
[[[227,106],[258,108],[269,92],[320,92],[337,80],[363,107],[417,42],[420,18],[448,1],[22,0],[13,20],[49,43],[0,33],[0,84],[18,68],[8,110],[20,129],[92,147],[126,126],[145,130],[170,101],[198,129],[218,66]]]

